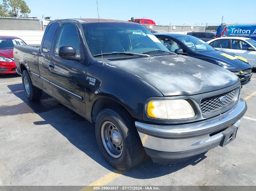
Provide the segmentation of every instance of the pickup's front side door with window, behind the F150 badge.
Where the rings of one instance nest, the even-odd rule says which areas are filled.
[[[49,77],[53,88],[53,97],[81,116],[85,116],[85,75],[87,66],[84,62],[67,60],[58,56],[58,49],[64,45],[73,46],[76,52],[79,52],[81,41],[78,35],[78,27],[78,23],[75,22],[64,23],[58,35],[55,35],[49,56],[49,64],[51,65]]]

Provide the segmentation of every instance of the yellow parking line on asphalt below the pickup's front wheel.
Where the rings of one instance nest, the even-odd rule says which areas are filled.
[[[104,177],[101,177],[98,180],[96,180],[95,182],[88,185],[88,187],[86,186],[85,188],[81,189],[80,191],[92,190],[92,188],[90,186],[104,186],[104,185],[110,183],[115,178],[120,177],[123,173],[125,173],[125,171],[121,171],[121,170],[115,170],[113,172],[110,172],[110,173],[106,174]]]

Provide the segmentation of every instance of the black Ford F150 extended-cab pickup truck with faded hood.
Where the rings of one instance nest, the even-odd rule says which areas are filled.
[[[236,75],[169,52],[136,23],[51,21],[41,47],[15,45],[14,60],[28,100],[44,91],[95,123],[103,156],[120,170],[145,153],[166,164],[225,146],[247,110]]]

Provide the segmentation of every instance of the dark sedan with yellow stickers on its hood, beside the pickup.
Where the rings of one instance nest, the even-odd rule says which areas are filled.
[[[155,33],[154,35],[162,43],[168,43],[171,52],[205,60],[226,68],[238,75],[242,85],[251,81],[252,66],[245,62],[246,60],[243,61],[241,57],[218,51],[203,40],[193,36],[175,33]]]

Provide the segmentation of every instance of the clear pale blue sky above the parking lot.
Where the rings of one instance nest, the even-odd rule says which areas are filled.
[[[52,19],[97,18],[96,0],[25,0],[29,16]],[[2,3],[2,0],[0,0]],[[98,0],[101,18],[148,18],[161,25],[218,25],[224,22],[256,23],[256,0]]]

